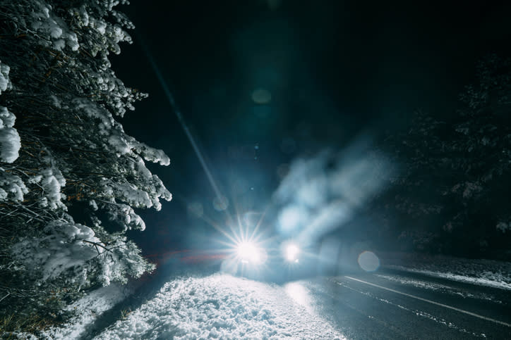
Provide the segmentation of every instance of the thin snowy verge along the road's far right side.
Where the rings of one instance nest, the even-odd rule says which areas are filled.
[[[382,267],[511,290],[511,263],[413,253],[378,253]]]

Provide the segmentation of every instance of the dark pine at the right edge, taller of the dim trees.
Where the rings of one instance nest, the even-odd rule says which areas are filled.
[[[464,211],[445,228],[469,234],[476,248],[507,250],[509,259],[511,59],[488,55],[479,61],[476,76],[478,81],[460,96],[464,105],[457,111],[450,144],[458,160],[453,170],[461,175],[446,194]]]

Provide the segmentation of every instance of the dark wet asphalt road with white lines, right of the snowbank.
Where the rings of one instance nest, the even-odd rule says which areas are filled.
[[[511,339],[511,291],[397,271],[299,284],[348,339]]]

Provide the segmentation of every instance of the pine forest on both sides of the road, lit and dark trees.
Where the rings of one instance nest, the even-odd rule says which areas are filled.
[[[126,2],[0,2],[0,332],[63,322],[88,291],[155,269],[127,233],[172,199],[146,165],[170,158],[121,124],[151,100],[112,70]],[[376,174],[355,239],[511,260],[511,61],[488,53],[474,75],[454,113],[417,108],[378,137],[371,153],[399,171]]]

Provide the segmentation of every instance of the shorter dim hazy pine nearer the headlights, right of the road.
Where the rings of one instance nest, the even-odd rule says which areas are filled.
[[[398,170],[389,179],[389,189],[375,200],[373,213],[390,221],[390,239],[396,239],[402,250],[431,250],[440,236],[441,228],[436,225],[445,203],[440,191],[447,187],[449,167],[443,138],[446,130],[445,122],[417,109],[406,130],[387,134],[380,143],[380,150]]]

